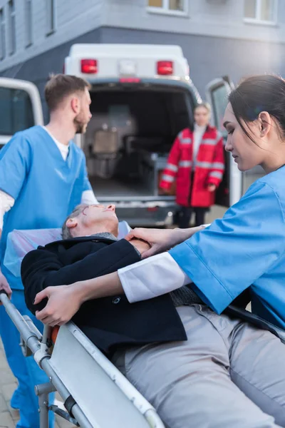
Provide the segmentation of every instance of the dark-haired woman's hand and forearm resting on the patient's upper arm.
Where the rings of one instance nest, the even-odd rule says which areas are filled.
[[[177,244],[182,243],[184,240],[191,238],[199,230],[203,230],[204,226],[188,229],[145,229],[135,228],[128,233],[125,237],[126,240],[139,238],[147,241],[150,244],[150,250],[142,254],[142,258],[150,257],[163,251],[170,250]]]

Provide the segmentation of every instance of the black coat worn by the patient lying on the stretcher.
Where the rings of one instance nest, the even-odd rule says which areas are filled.
[[[28,253],[21,265],[26,305],[35,313],[46,305],[46,301],[33,305],[36,294],[44,288],[105,275],[139,260],[127,240],[114,243],[84,237],[39,247]],[[120,345],[187,340],[169,294],[132,304],[125,295],[89,300],[73,322],[109,356]]]

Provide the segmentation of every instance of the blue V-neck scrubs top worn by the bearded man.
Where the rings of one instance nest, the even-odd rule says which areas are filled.
[[[81,203],[83,191],[91,189],[86,158],[71,142],[64,161],[46,130],[33,126],[16,133],[1,149],[0,189],[15,199],[14,207],[4,215],[0,241],[3,262],[11,230],[61,228],[67,215]],[[1,269],[11,287],[23,287],[3,265]]]

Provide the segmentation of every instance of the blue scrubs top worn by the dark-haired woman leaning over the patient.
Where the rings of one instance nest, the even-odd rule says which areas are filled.
[[[252,312],[285,328],[285,166],[251,185],[222,220],[170,250],[221,313],[247,287]]]

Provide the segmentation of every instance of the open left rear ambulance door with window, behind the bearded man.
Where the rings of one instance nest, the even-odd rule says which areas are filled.
[[[0,146],[14,133],[43,125],[43,110],[38,88],[16,78],[0,78]]]

